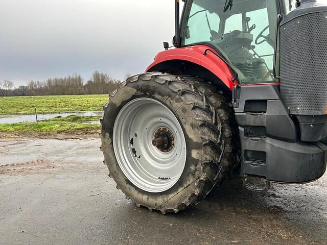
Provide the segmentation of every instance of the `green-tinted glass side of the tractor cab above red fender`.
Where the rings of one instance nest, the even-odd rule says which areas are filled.
[[[181,22],[181,46],[212,46],[237,71],[240,83],[275,82],[277,3],[266,0],[187,1]]]

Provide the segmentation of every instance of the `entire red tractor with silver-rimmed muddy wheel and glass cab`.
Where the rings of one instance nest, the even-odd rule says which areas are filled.
[[[104,163],[127,199],[195,205],[237,173],[246,188],[306,183],[327,161],[327,6],[175,1],[174,48],[110,93]],[[326,144],[325,144],[326,143]]]

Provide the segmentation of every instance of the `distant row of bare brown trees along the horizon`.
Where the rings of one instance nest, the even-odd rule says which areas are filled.
[[[130,75],[126,74],[125,79],[128,77]],[[48,78],[45,81],[30,81],[27,85],[18,88],[14,87],[13,82],[5,80],[0,83],[0,96],[108,94],[120,82],[99,71],[93,72],[86,83],[79,74],[63,78]]]

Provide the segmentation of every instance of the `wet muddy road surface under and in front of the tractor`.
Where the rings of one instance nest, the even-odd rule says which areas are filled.
[[[99,139],[0,141],[0,244],[327,244],[327,175],[254,193],[234,179],[161,215],[115,188]]]

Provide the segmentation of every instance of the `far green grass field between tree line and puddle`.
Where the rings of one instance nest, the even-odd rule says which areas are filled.
[[[0,97],[0,113],[38,113],[62,111],[102,111],[106,94]]]

